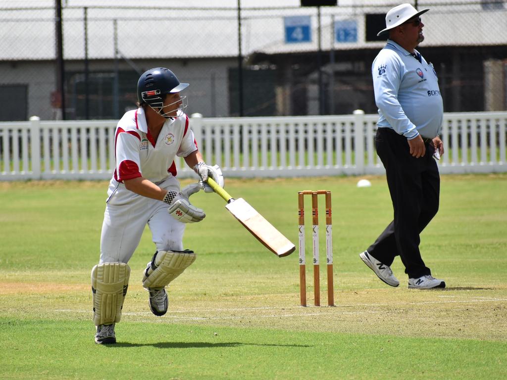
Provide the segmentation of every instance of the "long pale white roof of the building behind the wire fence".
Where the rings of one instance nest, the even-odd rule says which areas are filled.
[[[317,49],[317,11],[299,7],[299,0],[242,0],[242,54],[291,53]],[[445,5],[438,5],[438,4]],[[454,3],[454,4],[453,4]],[[62,0],[64,58],[83,59],[83,7],[88,8],[88,57],[115,56],[115,32],[119,53],[127,58],[233,57],[238,54],[237,0],[220,6],[198,0],[117,0],[115,7],[97,0]],[[111,3],[109,3],[111,4]],[[139,5],[141,4],[141,6]],[[321,8],[321,47],[329,49],[376,48],[383,42],[365,42],[366,13],[385,13],[392,5],[378,1],[343,0],[339,7]],[[467,0],[436,0],[423,15],[424,46],[507,45],[507,10],[503,2],[491,10]],[[54,1],[32,0],[16,8],[0,6],[0,60],[55,58]],[[31,8],[30,8],[31,7]],[[129,8],[130,7],[130,8]],[[159,8],[156,8],[159,7]],[[286,44],[284,17],[310,16],[312,41]],[[332,43],[332,22],[353,20],[357,42]]]

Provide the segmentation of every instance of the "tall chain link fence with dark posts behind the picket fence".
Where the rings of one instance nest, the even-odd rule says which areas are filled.
[[[397,5],[61,1],[63,73],[55,2],[0,4],[0,120],[118,119],[135,107],[139,75],[157,66],[191,84],[188,113],[205,117],[376,113],[371,64],[385,44],[376,33]],[[507,109],[506,2],[414,6],[430,9],[418,49],[437,70],[445,111]]]

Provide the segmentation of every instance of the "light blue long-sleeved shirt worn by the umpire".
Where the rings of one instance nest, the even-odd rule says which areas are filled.
[[[409,140],[419,134],[437,136],[444,118],[437,73],[418,51],[414,54],[387,40],[372,65],[377,126],[391,128]]]

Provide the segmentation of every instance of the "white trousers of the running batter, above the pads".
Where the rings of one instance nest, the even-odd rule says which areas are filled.
[[[157,183],[158,184],[158,183]],[[170,177],[160,187],[179,192],[179,182]],[[148,224],[157,250],[183,250],[185,223],[174,219],[169,205],[156,199],[142,197],[111,180],[100,236],[100,263],[125,262],[139,245]],[[150,252],[150,257],[155,252]]]

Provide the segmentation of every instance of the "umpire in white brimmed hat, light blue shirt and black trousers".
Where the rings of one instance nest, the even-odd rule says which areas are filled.
[[[387,12],[387,44],[372,65],[379,120],[377,154],[384,165],[394,218],[360,258],[386,284],[398,286],[390,265],[400,255],[413,289],[445,288],[433,278],[419,251],[419,234],[439,208],[440,176],[437,162],[444,154],[439,137],[443,102],[437,73],[415,49],[424,24],[410,4]]]

